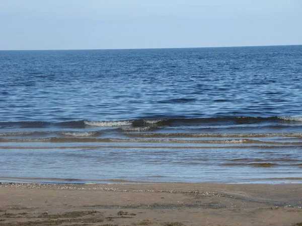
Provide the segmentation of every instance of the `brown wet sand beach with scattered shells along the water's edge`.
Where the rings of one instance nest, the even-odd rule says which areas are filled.
[[[0,225],[302,225],[301,184],[0,184]]]

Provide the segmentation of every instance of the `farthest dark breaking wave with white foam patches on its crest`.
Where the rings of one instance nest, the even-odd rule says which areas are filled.
[[[237,124],[259,124],[259,123],[297,123],[302,124],[302,117],[292,116],[272,116],[272,117],[250,117],[250,116],[236,116],[236,117],[212,117],[212,118],[186,118],[184,116],[175,118],[157,118],[157,119],[128,119],[116,121],[90,121],[90,120],[76,120],[64,122],[47,122],[47,121],[14,121],[14,122],[0,122],[1,128],[86,128],[87,126],[96,127],[146,127],[146,126],[181,126],[181,125],[237,125]]]

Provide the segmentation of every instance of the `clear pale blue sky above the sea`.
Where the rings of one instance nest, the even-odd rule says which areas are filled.
[[[302,44],[302,0],[0,0],[0,50]]]

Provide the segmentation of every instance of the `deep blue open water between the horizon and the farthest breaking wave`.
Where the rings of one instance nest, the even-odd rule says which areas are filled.
[[[292,116],[302,46],[1,51],[1,121]]]

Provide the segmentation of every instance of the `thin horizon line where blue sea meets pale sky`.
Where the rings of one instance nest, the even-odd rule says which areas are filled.
[[[236,47],[269,47],[269,46],[298,46],[288,45],[246,45],[246,46],[207,46],[207,47],[164,47],[164,48],[108,48],[108,49],[0,49],[0,51],[69,51],[69,50],[147,50],[147,49],[198,49],[198,48],[236,48]]]

